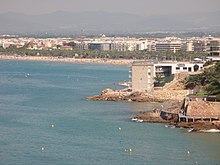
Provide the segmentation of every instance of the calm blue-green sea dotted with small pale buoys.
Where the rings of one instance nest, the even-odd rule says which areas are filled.
[[[220,164],[218,133],[130,121],[157,103],[86,99],[127,79],[124,66],[0,61],[0,165]]]

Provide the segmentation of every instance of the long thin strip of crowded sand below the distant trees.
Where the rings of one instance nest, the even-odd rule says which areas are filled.
[[[51,61],[51,62],[72,62],[88,64],[113,64],[113,65],[130,65],[134,60],[120,59],[100,59],[100,58],[60,58],[47,56],[15,56],[0,55],[0,60],[30,60],[30,61]]]

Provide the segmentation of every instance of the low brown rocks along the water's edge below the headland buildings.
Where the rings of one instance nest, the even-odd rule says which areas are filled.
[[[112,89],[103,90],[100,95],[89,96],[89,100],[98,101],[134,101],[134,102],[160,102],[167,103],[168,106],[152,111],[141,112],[133,116],[134,122],[168,123],[168,127],[186,128],[190,131],[220,130],[220,121],[195,121],[179,122],[178,117],[164,119],[161,112],[166,111],[178,114],[181,110],[183,98],[189,91],[186,90],[155,90],[153,93],[130,92],[129,90],[114,91]]]

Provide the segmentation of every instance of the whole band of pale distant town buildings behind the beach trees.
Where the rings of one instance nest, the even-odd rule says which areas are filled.
[[[30,50],[80,49],[97,51],[154,51],[154,52],[210,52],[211,56],[219,55],[219,38],[129,38],[129,37],[97,37],[97,38],[0,38],[0,47],[17,48],[27,46]],[[74,43],[74,47],[66,47]],[[70,45],[68,45],[70,46]]]

